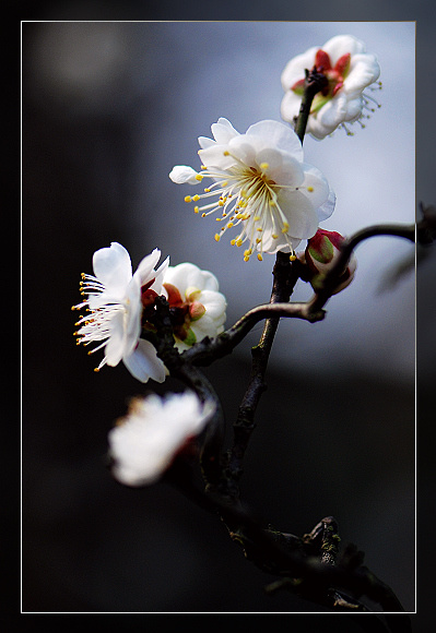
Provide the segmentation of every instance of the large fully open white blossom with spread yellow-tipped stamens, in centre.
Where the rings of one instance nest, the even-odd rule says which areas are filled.
[[[212,139],[199,138],[202,171],[178,165],[169,174],[177,184],[213,183],[203,193],[185,198],[186,202],[204,201],[195,212],[205,217],[219,216],[221,230],[215,240],[231,228],[237,229],[231,241],[248,261],[254,250],[262,253],[291,252],[303,239],[315,235],[318,223],[331,215],[334,193],[322,174],[303,162],[303,147],[288,126],[279,121],[259,121],[239,134],[227,119],[212,127]]]

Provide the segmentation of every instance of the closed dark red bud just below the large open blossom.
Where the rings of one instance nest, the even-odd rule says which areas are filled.
[[[318,229],[314,237],[307,241],[304,260],[311,273],[310,285],[315,291],[320,289],[326,274],[338,260],[344,241],[345,238],[341,234],[325,229]],[[333,295],[346,288],[354,277],[356,267],[357,261],[353,255],[345,271],[339,277]]]

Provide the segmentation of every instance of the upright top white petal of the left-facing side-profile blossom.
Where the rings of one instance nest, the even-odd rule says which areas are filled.
[[[99,249],[93,256],[94,274],[108,294],[122,297],[132,277],[132,265],[127,250],[118,242]]]

